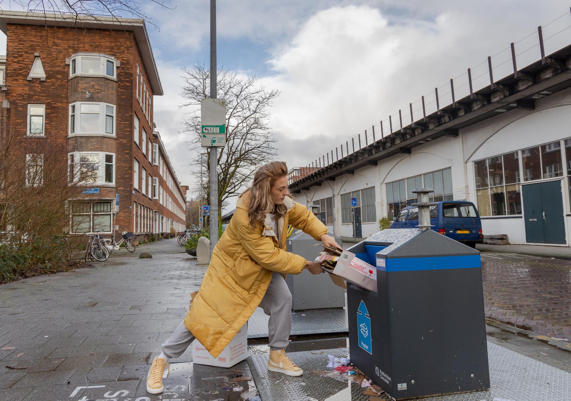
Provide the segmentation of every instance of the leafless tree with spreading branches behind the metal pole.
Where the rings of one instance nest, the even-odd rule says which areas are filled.
[[[210,199],[208,157],[200,157],[200,101],[210,98],[210,69],[196,63],[191,69],[183,68],[185,86],[182,107],[192,108],[184,121],[185,131],[191,135],[191,149],[198,151],[194,162],[194,176],[203,186],[204,197]],[[239,195],[250,183],[252,173],[259,165],[274,160],[276,139],[270,128],[270,107],[279,96],[278,90],[268,90],[258,82],[256,75],[239,75],[228,70],[218,71],[216,96],[226,100],[227,143],[218,153],[218,206],[222,210],[228,199]],[[219,218],[222,214],[219,214]]]

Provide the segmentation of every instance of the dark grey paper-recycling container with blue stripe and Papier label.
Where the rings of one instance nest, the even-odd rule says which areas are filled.
[[[348,249],[377,269],[347,283],[351,362],[397,400],[490,387],[480,253],[429,222]]]

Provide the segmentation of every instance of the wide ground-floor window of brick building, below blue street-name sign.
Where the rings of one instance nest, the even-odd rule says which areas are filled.
[[[71,233],[110,233],[111,201],[71,202]]]

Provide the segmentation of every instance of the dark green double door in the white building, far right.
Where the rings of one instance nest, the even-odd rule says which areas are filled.
[[[561,180],[522,185],[525,240],[532,244],[565,244]]]

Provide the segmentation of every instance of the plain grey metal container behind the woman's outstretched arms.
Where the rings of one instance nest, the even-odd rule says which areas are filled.
[[[337,244],[342,245],[341,238],[334,237]],[[320,243],[299,230],[287,239],[287,250],[307,260],[315,260],[317,254],[323,250],[315,246]],[[308,270],[303,270],[301,274],[288,274],[286,283],[293,298],[293,310],[345,306],[345,290],[333,284],[327,274],[311,274]]]

